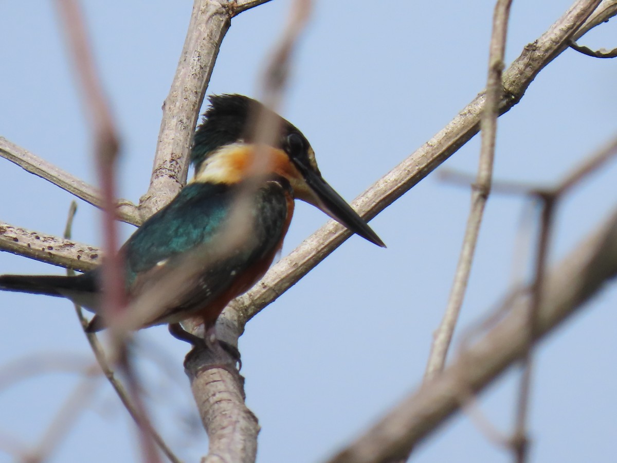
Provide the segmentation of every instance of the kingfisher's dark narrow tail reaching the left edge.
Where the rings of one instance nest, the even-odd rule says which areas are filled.
[[[19,293],[45,294],[46,296],[66,297],[67,291],[83,291],[81,275],[63,277],[61,275],[0,275],[0,290]],[[92,288],[93,289],[93,288]]]

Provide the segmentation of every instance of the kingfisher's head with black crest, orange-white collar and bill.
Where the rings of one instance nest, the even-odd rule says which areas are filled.
[[[385,247],[365,220],[323,180],[315,152],[300,130],[246,96],[225,94],[210,96],[209,100],[191,151],[194,181],[232,184],[257,175],[284,177],[295,198],[313,204],[354,233]],[[267,125],[275,130],[266,135],[273,136],[257,133],[259,118],[267,118]],[[264,131],[268,130],[266,127]]]

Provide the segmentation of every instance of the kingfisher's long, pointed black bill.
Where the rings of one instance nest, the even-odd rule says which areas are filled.
[[[328,183],[326,183],[320,175],[312,172],[311,170],[303,173],[307,185],[310,186],[317,198],[320,199],[321,204],[317,206],[323,212],[342,225],[345,225],[345,227],[349,228],[349,230],[362,236],[362,238],[365,238],[371,243],[375,243],[377,246],[381,246],[382,248],[386,247],[386,244],[381,241],[381,238],[377,236],[377,233],[375,233],[375,231],[368,226],[365,220],[362,219],[362,217],[360,217],[360,215],[358,215],[357,212],[355,212],[354,209],[352,209],[352,207],[341,198],[341,195],[336,193],[334,188],[328,185]]]

